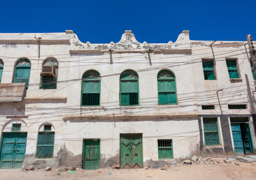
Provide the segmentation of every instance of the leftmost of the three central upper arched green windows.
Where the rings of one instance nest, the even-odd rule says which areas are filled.
[[[82,79],[81,106],[100,105],[100,74],[90,70],[84,73]]]

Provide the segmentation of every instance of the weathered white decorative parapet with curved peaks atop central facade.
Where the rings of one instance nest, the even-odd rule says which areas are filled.
[[[75,35],[75,34],[74,34]],[[189,43],[189,31],[183,31],[175,43],[148,44],[140,43],[135,39],[132,31],[125,31],[118,43],[110,42],[109,44],[91,44],[82,43],[77,35],[71,39],[71,54],[77,53],[125,53],[125,52],[144,52],[144,53],[161,53],[161,52],[191,52]]]

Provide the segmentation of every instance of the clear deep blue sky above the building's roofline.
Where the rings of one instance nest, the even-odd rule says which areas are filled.
[[[183,30],[190,31],[190,40],[256,37],[255,0],[2,0],[0,7],[0,33],[73,30],[84,43],[116,43],[125,30],[132,30],[141,43],[175,42]]]

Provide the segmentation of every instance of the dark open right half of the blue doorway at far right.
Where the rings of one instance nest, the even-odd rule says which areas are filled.
[[[245,154],[252,154],[252,143],[249,134],[249,127],[246,123],[241,123],[241,134]]]

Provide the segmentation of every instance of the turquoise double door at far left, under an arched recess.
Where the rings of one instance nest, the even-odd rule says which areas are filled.
[[[1,145],[1,168],[22,168],[27,144],[26,132],[3,133]]]

